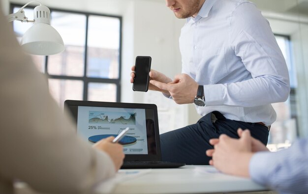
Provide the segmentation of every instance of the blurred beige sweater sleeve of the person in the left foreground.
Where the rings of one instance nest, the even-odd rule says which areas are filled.
[[[75,194],[114,174],[106,153],[77,138],[71,118],[21,50],[0,5],[1,180],[19,179],[41,192]]]

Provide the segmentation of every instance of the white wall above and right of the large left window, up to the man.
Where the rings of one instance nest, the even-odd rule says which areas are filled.
[[[14,0],[26,4],[30,0]],[[181,73],[178,47],[185,20],[176,19],[163,0],[40,0],[48,7],[123,16],[121,101],[157,105],[160,132],[188,124],[188,106],[176,105],[159,92],[133,92],[130,68],[137,55],[152,56],[152,68],[173,78]],[[2,0],[8,10],[9,0]],[[35,5],[35,4],[33,4]],[[195,111],[194,111],[195,113]]]

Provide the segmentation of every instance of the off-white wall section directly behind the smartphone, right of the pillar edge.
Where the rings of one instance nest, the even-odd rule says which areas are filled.
[[[152,69],[173,78],[182,69],[178,38],[185,20],[176,19],[164,1],[135,0],[134,4],[133,56],[152,56]],[[187,105],[177,105],[160,92],[132,92],[131,85],[126,92],[133,95],[133,102],[157,105],[161,133],[188,124]]]

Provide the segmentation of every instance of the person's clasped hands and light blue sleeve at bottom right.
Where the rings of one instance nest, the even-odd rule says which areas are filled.
[[[281,194],[308,193],[308,139],[300,139],[288,149],[269,152],[253,139],[248,130],[238,130],[240,139],[221,135],[211,139],[215,149],[207,151],[210,161],[220,171],[251,177],[255,182]]]

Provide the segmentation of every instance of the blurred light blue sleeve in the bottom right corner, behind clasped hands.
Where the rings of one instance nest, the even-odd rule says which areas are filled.
[[[296,141],[285,150],[256,153],[249,174],[255,182],[281,193],[307,193],[308,140]]]

